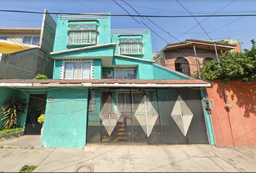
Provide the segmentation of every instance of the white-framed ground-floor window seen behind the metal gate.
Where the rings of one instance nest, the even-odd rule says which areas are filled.
[[[145,93],[146,96],[148,97],[148,93]],[[131,98],[130,98],[131,94],[129,92],[118,92],[117,93],[117,107],[118,110],[121,112],[127,111],[130,112],[131,111],[131,107],[132,107],[132,111],[144,111],[142,110],[142,107],[140,105],[140,102],[142,101],[143,98],[143,94],[142,92],[133,92],[132,93],[132,105],[131,105]]]

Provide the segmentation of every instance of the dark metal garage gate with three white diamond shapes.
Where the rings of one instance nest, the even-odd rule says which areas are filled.
[[[89,107],[89,143],[208,143],[200,89],[91,89]]]

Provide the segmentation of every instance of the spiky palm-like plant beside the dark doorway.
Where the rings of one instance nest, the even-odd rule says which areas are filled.
[[[4,102],[4,105],[1,107],[1,115],[4,116],[1,120],[5,120],[3,123],[4,128],[11,129],[17,127],[17,117],[25,113],[26,106],[26,99],[16,95],[13,95],[11,99]]]

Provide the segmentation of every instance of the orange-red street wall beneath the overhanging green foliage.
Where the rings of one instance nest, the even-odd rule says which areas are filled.
[[[207,89],[208,98],[214,99],[215,109],[210,110],[217,146],[256,146],[256,82],[229,81],[225,84],[228,104],[221,82],[213,82]],[[231,125],[229,124],[229,117]],[[234,136],[234,142],[231,135]]]

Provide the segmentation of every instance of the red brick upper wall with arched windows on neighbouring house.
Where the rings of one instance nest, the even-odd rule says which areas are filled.
[[[196,49],[197,60],[199,61],[199,68],[202,67],[202,61],[204,58],[210,57],[216,59],[216,52],[213,50]],[[179,51],[172,50],[171,52],[164,52],[166,58],[166,68],[170,68],[175,71],[176,58],[183,57],[189,61],[190,74],[197,73],[197,63],[195,61],[195,52],[192,48],[179,49]],[[219,53],[218,56],[221,54]]]

